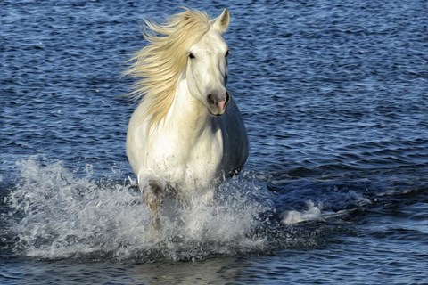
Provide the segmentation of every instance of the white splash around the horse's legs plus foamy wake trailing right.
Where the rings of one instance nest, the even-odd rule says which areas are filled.
[[[7,197],[10,213],[2,214],[9,219],[6,234],[16,238],[12,248],[18,254],[42,259],[199,260],[316,245],[317,234],[311,233],[316,230],[294,231],[292,226],[340,218],[371,203],[354,191],[332,191],[322,200],[314,191],[306,207],[276,208],[275,194],[255,175],[243,173],[222,183],[210,204],[198,195],[191,207],[166,200],[161,229],[155,232],[136,186],[128,179],[118,183],[116,173],[95,179],[86,165],[86,177],[81,177],[61,161],[45,165],[37,157],[18,167],[21,180]],[[293,191],[282,195],[299,197]],[[324,207],[323,200],[330,206]]]

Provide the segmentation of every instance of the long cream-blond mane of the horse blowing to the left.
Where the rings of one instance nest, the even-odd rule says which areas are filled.
[[[126,75],[139,77],[130,94],[144,97],[143,118],[149,126],[157,125],[168,113],[174,100],[177,80],[185,70],[188,49],[210,29],[205,12],[185,10],[171,16],[165,24],[145,20],[144,38],[149,42],[131,59]]]

